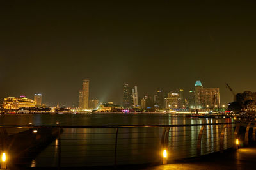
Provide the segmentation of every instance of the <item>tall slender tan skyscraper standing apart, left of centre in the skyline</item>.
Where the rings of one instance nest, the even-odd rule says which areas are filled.
[[[89,80],[83,81],[82,91],[79,91],[79,107],[89,109]]]

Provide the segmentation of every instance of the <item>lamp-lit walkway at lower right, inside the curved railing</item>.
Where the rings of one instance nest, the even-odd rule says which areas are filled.
[[[167,169],[256,169],[256,147],[240,148],[228,153],[215,153],[198,160],[143,168],[147,170]]]

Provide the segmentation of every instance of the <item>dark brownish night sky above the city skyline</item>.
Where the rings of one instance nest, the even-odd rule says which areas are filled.
[[[219,87],[256,91],[256,1],[0,1],[0,98],[43,94],[77,102],[122,102],[157,89]]]

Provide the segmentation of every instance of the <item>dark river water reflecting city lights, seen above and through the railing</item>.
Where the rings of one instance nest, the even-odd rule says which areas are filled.
[[[231,119],[188,118],[184,114],[13,114],[1,115],[0,125],[181,125],[231,122]],[[206,126],[202,154],[220,150],[223,125]],[[168,162],[196,156],[198,127],[171,127],[168,134]],[[64,128],[61,134],[61,166],[106,166],[115,163],[116,128]],[[140,164],[161,160],[163,127],[118,128],[116,164]],[[232,147],[232,126],[225,132],[224,148]],[[30,166],[57,166],[58,139]]]

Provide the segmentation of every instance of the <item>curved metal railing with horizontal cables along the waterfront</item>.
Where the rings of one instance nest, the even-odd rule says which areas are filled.
[[[248,123],[246,126],[244,144],[248,144],[251,125]],[[76,166],[166,164],[182,158],[236,148],[239,127],[239,123],[0,126],[1,152],[6,153],[7,159],[9,157],[7,166],[60,169]],[[254,141],[255,133],[256,125],[252,134]],[[163,150],[167,153],[166,157],[163,157]]]

